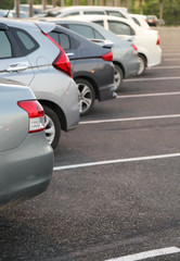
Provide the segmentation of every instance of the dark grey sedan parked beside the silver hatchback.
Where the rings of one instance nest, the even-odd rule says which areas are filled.
[[[56,26],[49,36],[66,51],[70,60],[79,90],[80,115],[92,109],[95,99],[105,101],[116,97],[110,45],[97,45],[62,26]]]

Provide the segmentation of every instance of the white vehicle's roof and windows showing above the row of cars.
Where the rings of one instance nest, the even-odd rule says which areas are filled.
[[[115,7],[104,7],[104,5],[74,5],[67,8],[55,8],[52,10],[47,10],[41,14],[34,17],[67,17],[76,15],[113,15],[124,18],[129,18],[132,21],[131,16],[128,14],[126,8],[115,8]]]

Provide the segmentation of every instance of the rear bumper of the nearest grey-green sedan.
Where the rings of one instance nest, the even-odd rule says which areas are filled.
[[[0,152],[0,209],[44,191],[53,170],[44,133],[30,134],[17,148]]]

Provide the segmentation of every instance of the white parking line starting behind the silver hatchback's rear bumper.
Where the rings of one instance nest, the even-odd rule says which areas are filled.
[[[98,121],[85,121],[85,122],[79,122],[79,125],[98,124],[98,123],[113,123],[113,122],[145,121],[145,120],[160,120],[160,119],[173,119],[173,117],[180,117],[180,114],[154,115],[154,116],[142,116],[142,117],[106,119],[106,120],[98,120]]]

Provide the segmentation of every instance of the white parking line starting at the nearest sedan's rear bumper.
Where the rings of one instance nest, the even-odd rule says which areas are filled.
[[[180,157],[180,153],[137,157],[137,158],[117,159],[117,160],[107,160],[107,161],[97,161],[97,162],[88,162],[88,163],[81,163],[81,164],[54,166],[53,171],[63,171],[63,170],[72,170],[72,169],[78,169],[78,167],[107,165],[107,164],[125,163],[125,162],[168,159],[168,158],[177,158],[177,157]]]

